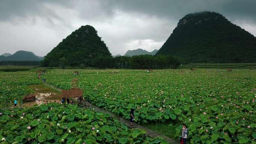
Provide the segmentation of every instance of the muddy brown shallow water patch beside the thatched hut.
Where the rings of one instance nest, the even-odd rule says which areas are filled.
[[[36,100],[23,102],[22,107],[32,107],[35,104],[61,101],[60,93],[48,86],[40,84],[40,85],[30,85],[28,87],[34,90],[36,94]]]

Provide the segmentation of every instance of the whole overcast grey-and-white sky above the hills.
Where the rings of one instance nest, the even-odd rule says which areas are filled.
[[[44,56],[81,25],[112,55],[159,49],[188,13],[214,11],[256,36],[256,0],[0,0],[0,54]]]

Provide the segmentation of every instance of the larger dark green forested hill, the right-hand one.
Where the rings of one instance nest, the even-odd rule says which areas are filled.
[[[183,62],[256,62],[256,38],[215,12],[184,16],[156,55]]]

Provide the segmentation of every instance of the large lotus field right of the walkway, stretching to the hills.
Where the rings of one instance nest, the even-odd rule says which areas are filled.
[[[74,70],[53,70],[47,82],[70,89]],[[138,123],[182,123],[190,143],[256,143],[256,71],[79,70],[79,88],[98,107]]]

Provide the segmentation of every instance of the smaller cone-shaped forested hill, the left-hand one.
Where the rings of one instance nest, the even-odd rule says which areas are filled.
[[[42,66],[59,67],[88,65],[92,59],[111,57],[106,44],[90,25],[80,27],[63,39],[42,61]]]

